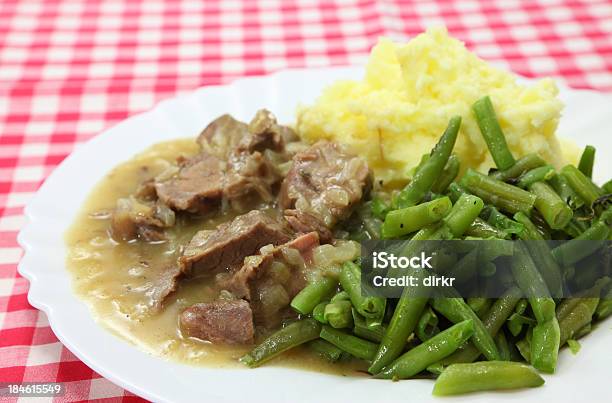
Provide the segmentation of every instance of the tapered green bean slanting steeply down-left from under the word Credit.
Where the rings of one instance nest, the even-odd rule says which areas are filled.
[[[427,275],[427,271],[411,270],[410,275],[421,282]],[[418,290],[415,287],[404,288],[368,372],[371,374],[380,372],[383,367],[390,364],[402,353],[408,336],[414,331],[427,304],[428,297],[423,293],[423,290]]]

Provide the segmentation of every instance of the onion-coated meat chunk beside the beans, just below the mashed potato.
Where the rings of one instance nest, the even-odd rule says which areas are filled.
[[[346,154],[334,143],[320,141],[293,157],[293,166],[281,185],[279,204],[307,213],[331,228],[348,218],[370,182],[364,159]],[[296,217],[294,213],[289,216]],[[310,219],[290,221],[299,226]]]

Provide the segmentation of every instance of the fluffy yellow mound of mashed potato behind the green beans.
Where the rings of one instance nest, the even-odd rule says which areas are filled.
[[[511,73],[470,53],[443,28],[405,45],[381,39],[372,49],[362,81],[326,88],[314,105],[298,110],[297,130],[307,141],[344,143],[367,157],[378,180],[401,185],[409,168],[428,153],[449,119],[463,123],[455,152],[462,166],[485,171],[493,161],[471,112],[490,95],[515,157],[536,152],[563,163],[555,129],[562,104],[550,79],[520,85]]]

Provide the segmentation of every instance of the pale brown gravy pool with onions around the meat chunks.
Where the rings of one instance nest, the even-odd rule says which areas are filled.
[[[134,193],[140,183],[152,178],[178,156],[198,151],[193,139],[153,145],[114,168],[98,183],[66,233],[67,268],[77,295],[86,301],[98,323],[141,350],[167,359],[211,367],[244,366],[237,359],[252,346],[222,346],[186,338],[178,327],[178,314],[197,302],[212,301],[218,289],[211,279],[183,282],[158,313],[151,313],[147,291],[159,273],[173,264],[181,245],[201,229],[214,229],[234,215],[177,217],[162,243],[115,242],[109,234],[110,212],[118,198]],[[271,364],[299,367],[339,375],[357,374],[363,364],[348,361],[328,363],[305,348],[283,354]]]

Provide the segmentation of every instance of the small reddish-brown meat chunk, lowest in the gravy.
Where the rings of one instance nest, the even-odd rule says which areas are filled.
[[[253,342],[253,314],[242,299],[195,304],[183,311],[180,326],[186,336],[212,343]]]

